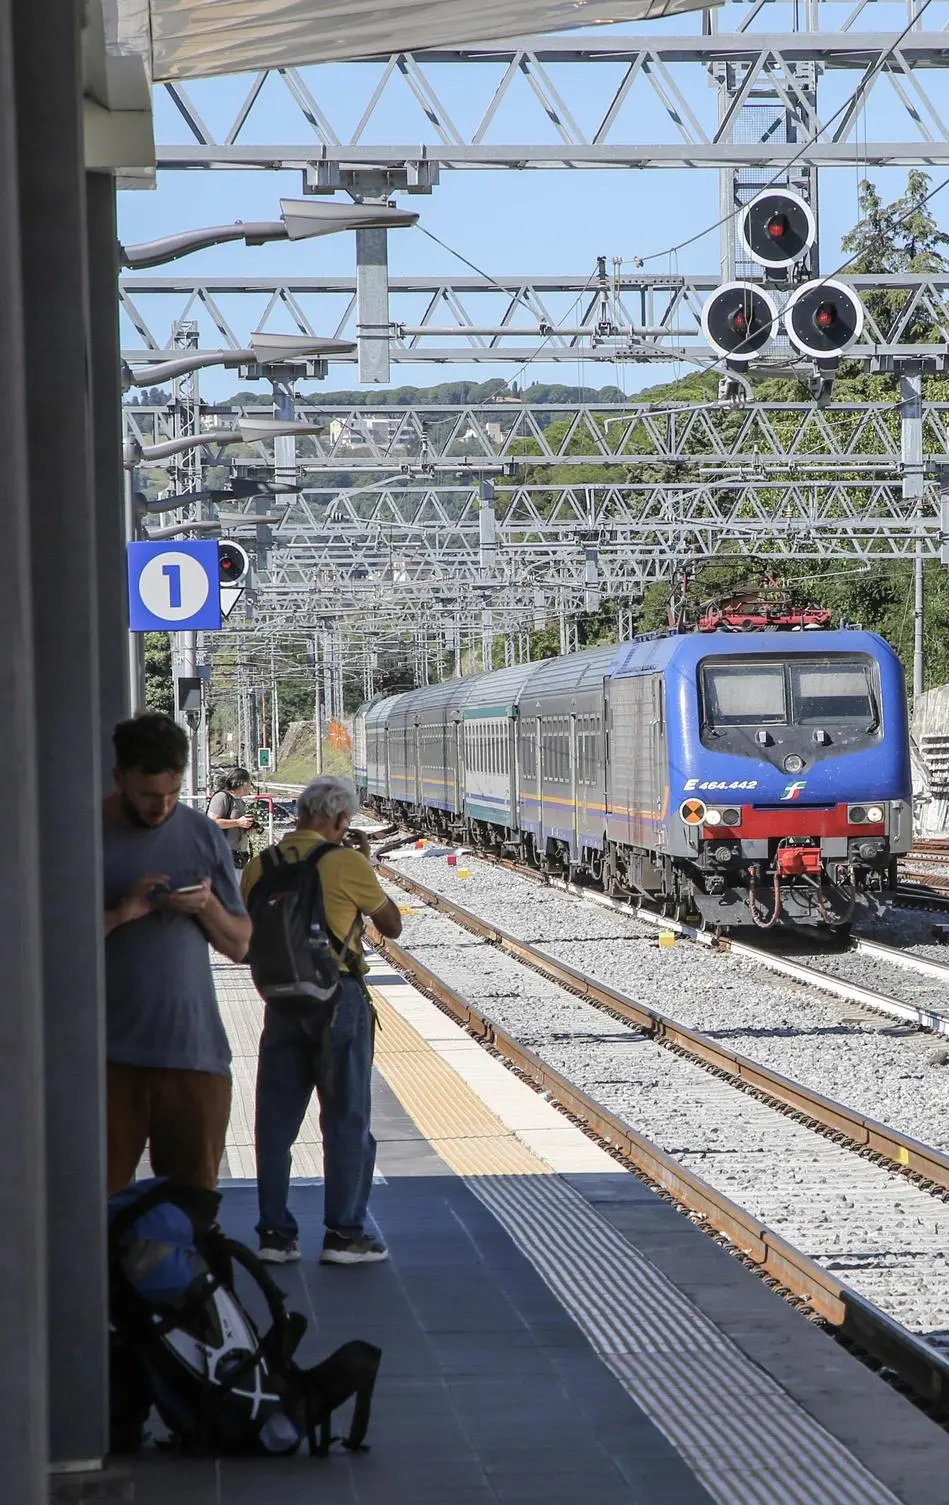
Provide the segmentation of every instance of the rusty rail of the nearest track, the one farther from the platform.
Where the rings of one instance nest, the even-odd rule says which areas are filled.
[[[821,1129],[842,1135],[859,1150],[868,1150],[887,1160],[896,1169],[910,1171],[920,1180],[949,1193],[949,1156],[943,1154],[941,1150],[920,1144],[920,1141],[910,1138],[910,1135],[901,1133],[899,1129],[892,1129],[875,1118],[868,1118],[865,1114],[859,1114],[856,1109],[847,1108],[830,1097],[823,1097],[802,1082],[796,1082],[767,1066],[761,1066],[758,1061],[752,1061],[750,1057],[740,1055],[737,1050],[728,1050],[701,1031],[690,1029],[668,1014],[636,1002],[627,993],[621,993],[618,989],[597,981],[587,972],[570,966],[568,962],[561,962],[540,947],[531,945],[529,941],[520,941],[508,935],[499,926],[483,920],[480,915],[474,915],[451,898],[445,898],[444,894],[436,894],[435,889],[427,888],[414,877],[408,877],[388,862],[379,864],[379,873],[406,892],[418,895],[429,908],[439,909],[471,935],[480,936],[490,945],[498,947],[498,950],[516,957],[516,960],[531,966],[552,983],[559,983],[570,989],[570,992],[585,998],[594,1007],[606,1008],[627,1023],[645,1031],[659,1044],[672,1046],[704,1066],[723,1072],[737,1082],[772,1099],[781,1108],[790,1108],[797,1114],[803,1114],[820,1124]]]

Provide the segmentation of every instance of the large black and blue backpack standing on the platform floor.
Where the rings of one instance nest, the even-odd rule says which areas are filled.
[[[362,1446],[382,1351],[347,1342],[304,1370],[305,1317],[286,1309],[266,1266],[217,1224],[220,1195],[158,1178],[108,1202],[111,1451],[137,1452],[152,1407],[189,1454],[325,1457],[332,1412],[355,1397],[343,1446]],[[235,1290],[263,1296],[260,1333]]]

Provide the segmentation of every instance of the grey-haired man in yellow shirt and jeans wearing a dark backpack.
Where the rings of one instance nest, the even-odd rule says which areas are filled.
[[[396,939],[402,917],[385,897],[368,862],[368,840],[350,831],[359,808],[353,786],[331,774],[314,778],[296,801],[296,829],[280,841],[284,861],[299,862],[320,843],[335,852],[319,859],[326,927],[340,959],[341,989],[331,1026],[332,1093],[320,1096],[323,1136],[323,1264],[368,1264],[388,1258],[382,1240],[365,1227],[376,1165],[370,1133],[373,1014],[365,983],[362,923]],[[260,858],[245,867],[241,894],[247,903],[260,877]],[[299,1260],[298,1224],[287,1207],[290,1154],[313,1090],[319,1093],[316,1049],[298,1019],[265,1007],[257,1060],[257,1202],[260,1258],[274,1264]]]

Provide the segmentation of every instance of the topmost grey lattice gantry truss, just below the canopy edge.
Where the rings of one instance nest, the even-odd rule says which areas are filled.
[[[756,32],[767,18],[767,6],[756,3],[743,11],[734,33],[719,32],[720,17],[707,12],[716,27],[707,36],[535,36],[513,45],[399,53],[349,66],[347,87],[335,98],[346,99],[346,122],[355,114],[355,125],[344,123],[343,111],[322,95],[319,71],[259,72],[218,131],[202,116],[200,89],[168,83],[162,87],[188,140],[159,144],[158,166],[296,169],[316,193],[347,187],[353,172],[399,175],[409,191],[427,191],[439,172],[463,169],[788,166],[799,155],[794,143],[767,129],[760,140],[735,131],[743,104],[763,93],[785,104],[802,138],[817,137],[808,147],[812,166],[848,166],[857,152],[866,167],[949,163],[949,128],[932,72],[949,56],[946,33],[937,29],[941,0],[926,12],[934,29],[911,30],[898,45],[901,24],[892,33],[860,30],[874,18],[866,0],[850,9],[835,5],[833,18],[821,17],[827,9],[827,0],[805,6],[805,26],[814,30],[791,35]],[[483,98],[466,110],[466,120],[457,107],[459,65],[468,89],[480,83],[472,74],[483,75]],[[584,93],[591,68],[600,101],[593,111]],[[729,86],[732,102],[720,119],[714,93],[701,93],[699,71]],[[827,71],[850,75],[853,104],[820,131],[815,83]],[[260,117],[266,131],[277,90],[281,114],[289,111],[299,123],[299,137],[284,144],[269,143],[257,129]],[[889,108],[875,117],[887,131],[895,117],[902,137],[869,134],[868,102],[884,96]],[[394,110],[405,119],[402,144],[384,141]],[[644,120],[656,120],[657,140],[642,141]]]

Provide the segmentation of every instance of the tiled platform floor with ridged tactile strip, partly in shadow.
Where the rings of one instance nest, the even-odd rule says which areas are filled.
[[[253,1242],[259,1004],[218,971],[235,1046],[224,1221]],[[140,1505],[946,1505],[949,1437],[806,1323],[384,963],[373,1215],[388,1264],[278,1267],[313,1361],[384,1348],[371,1451],[143,1458]]]

